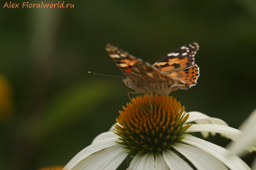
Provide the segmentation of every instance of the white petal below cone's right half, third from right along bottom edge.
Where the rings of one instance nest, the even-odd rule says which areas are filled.
[[[163,151],[163,159],[170,170],[193,170],[193,168],[172,150]]]

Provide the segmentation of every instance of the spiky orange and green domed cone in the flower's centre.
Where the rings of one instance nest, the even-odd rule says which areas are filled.
[[[179,142],[181,136],[192,124],[186,124],[189,114],[183,113],[180,102],[171,96],[158,96],[155,94],[131,99],[124,111],[119,111],[120,116],[116,121],[116,135],[120,136],[132,155],[137,153],[161,153],[172,148],[173,142]],[[151,105],[152,109],[151,109]],[[185,116],[186,115],[186,116]]]

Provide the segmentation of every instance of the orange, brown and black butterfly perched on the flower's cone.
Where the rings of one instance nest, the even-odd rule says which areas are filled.
[[[196,42],[184,45],[150,65],[122,49],[107,44],[105,50],[117,67],[125,74],[122,79],[137,93],[168,95],[177,89],[186,90],[197,84],[199,67],[194,56],[199,46]]]

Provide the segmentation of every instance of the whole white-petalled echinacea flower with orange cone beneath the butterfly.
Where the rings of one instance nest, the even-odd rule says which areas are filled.
[[[152,109],[150,103],[152,104]],[[250,170],[223,147],[192,136],[221,133],[237,140],[241,131],[199,112],[184,112],[180,102],[153,94],[132,99],[108,132],[99,134],[64,167],[65,170]],[[197,124],[191,124],[195,122]],[[227,156],[230,154],[231,157]]]

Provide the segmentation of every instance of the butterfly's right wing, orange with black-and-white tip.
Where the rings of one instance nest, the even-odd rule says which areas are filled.
[[[153,66],[169,76],[183,82],[184,88],[196,85],[199,77],[199,67],[194,64],[194,56],[199,46],[196,42],[187,44],[167,54]]]

